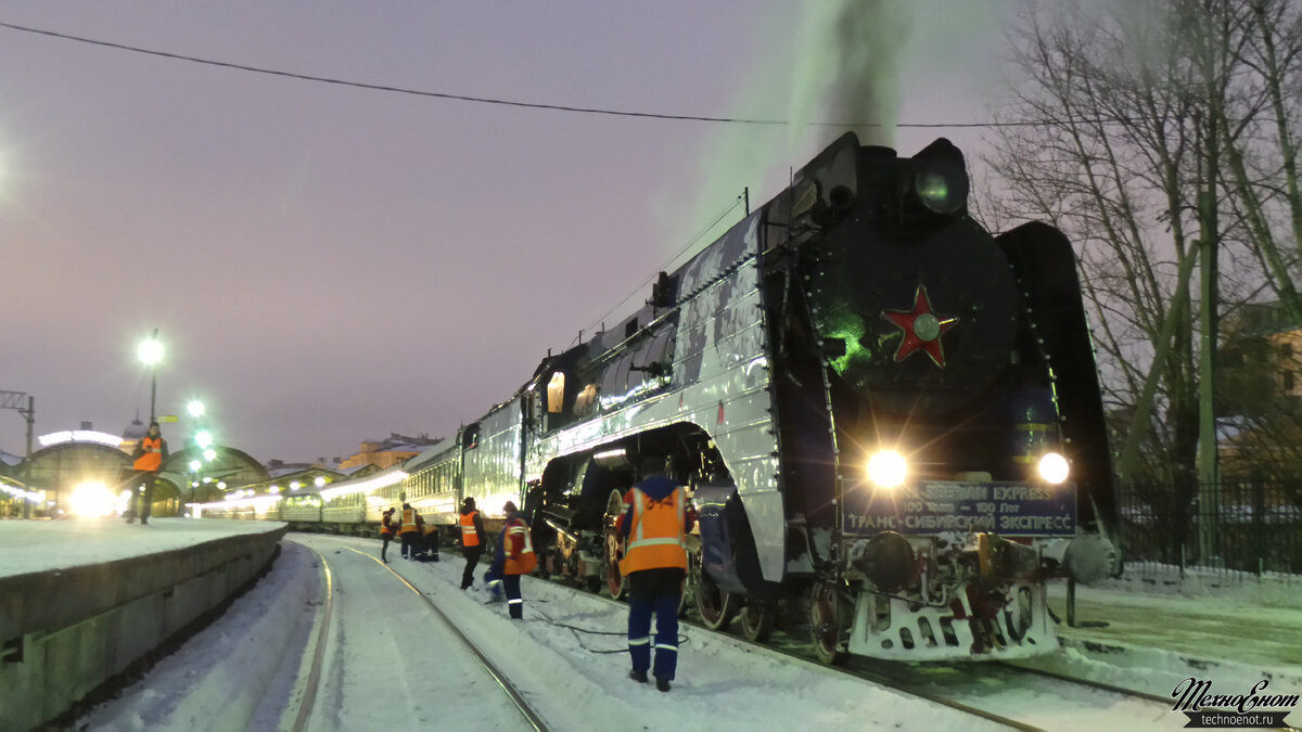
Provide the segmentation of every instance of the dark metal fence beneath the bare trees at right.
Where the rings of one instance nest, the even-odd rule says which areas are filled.
[[[1302,576],[1302,478],[1131,483],[1117,499],[1126,561]]]

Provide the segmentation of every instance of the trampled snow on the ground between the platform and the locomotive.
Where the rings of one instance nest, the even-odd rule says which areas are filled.
[[[379,556],[379,543],[316,535],[292,535],[275,569],[214,625],[185,649],[165,659],[121,698],[102,705],[78,725],[90,729],[284,729],[285,719],[273,703],[253,709],[245,702],[250,686],[268,689],[272,701],[297,698],[286,675],[298,675],[302,651],[310,643],[306,617],[316,610],[319,573],[303,547],[320,551],[331,565],[337,597],[350,593],[379,595],[385,607],[397,607],[411,590],[388,580],[388,569],[368,563],[358,569],[345,561],[357,550]],[[391,556],[396,547],[391,547]],[[807,729],[807,728],[927,728],[986,729],[995,725],[962,712],[872,688],[827,668],[754,649],[734,638],[684,628],[678,679],[668,694],[628,679],[624,643],[626,610],[553,584],[525,578],[526,621],[506,617],[505,604],[486,604],[482,590],[458,589],[464,563],[447,555],[437,564],[393,560],[392,567],[493,659],[526,697],[536,703],[553,729]],[[482,570],[483,568],[480,568]],[[359,576],[366,573],[366,576]],[[319,705],[349,699],[374,703],[371,715],[314,715],[311,729],[355,729],[359,719],[372,728],[392,731],[452,728],[526,728],[495,725],[490,716],[501,693],[484,688],[477,696],[458,694],[432,676],[432,667],[413,668],[398,656],[393,640],[381,632],[374,603],[337,599],[339,626],[357,642],[335,647],[327,664]],[[406,610],[398,612],[408,612]],[[432,613],[409,616],[398,642],[419,649],[434,666],[449,655],[464,656],[432,628]],[[592,633],[561,629],[555,623]],[[276,628],[281,630],[277,634]],[[271,634],[268,637],[268,633]],[[604,634],[595,634],[604,633]],[[267,651],[271,653],[267,653]],[[612,653],[598,653],[598,651]],[[281,660],[283,659],[283,660]],[[306,662],[303,662],[306,663]],[[366,668],[366,673],[349,667]],[[270,675],[270,676],[268,676]],[[350,688],[332,679],[348,679]],[[419,710],[404,702],[398,685],[423,690]],[[417,694],[415,697],[418,697]],[[197,697],[191,699],[190,697]],[[413,697],[413,698],[415,698]],[[234,699],[232,702],[230,699]],[[254,716],[245,715],[253,709]],[[431,715],[434,719],[431,719]]]

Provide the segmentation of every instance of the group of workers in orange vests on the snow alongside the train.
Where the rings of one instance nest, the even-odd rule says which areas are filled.
[[[642,479],[625,492],[625,509],[616,520],[616,531],[625,547],[618,560],[620,572],[629,582],[628,638],[633,666],[629,677],[647,684],[654,676],[656,689],[668,692],[678,666],[678,604],[687,577],[686,535],[691,530],[693,514],[687,511],[682,486],[668,477],[663,458],[643,458],[639,474]],[[525,600],[519,593],[519,578],[534,570],[538,557],[529,525],[514,501],[506,501],[504,512],[506,522],[497,535],[493,560],[484,580],[490,591],[496,593],[499,586],[505,591],[510,619],[522,620]],[[427,526],[410,504],[402,504],[398,518],[393,513],[395,509],[388,509],[380,525],[384,542],[380,557],[384,557],[396,533],[402,539],[404,557],[409,556],[409,546],[414,552],[419,544],[424,552],[432,551],[437,561],[436,528]],[[474,572],[488,538],[474,498],[462,503],[457,524],[466,559],[461,589],[466,590],[474,584]],[[430,541],[417,542],[417,538],[431,535]],[[431,543],[432,550],[428,548]],[[654,643],[652,617],[656,626]]]

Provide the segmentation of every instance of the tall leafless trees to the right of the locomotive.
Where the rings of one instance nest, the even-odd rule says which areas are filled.
[[[1021,82],[987,160],[1003,194],[992,214],[1046,219],[1077,242],[1125,435],[1117,469],[1174,485],[1187,505],[1200,425],[1213,442],[1199,388],[1219,314],[1267,294],[1302,328],[1302,8],[1032,7],[1010,49]]]

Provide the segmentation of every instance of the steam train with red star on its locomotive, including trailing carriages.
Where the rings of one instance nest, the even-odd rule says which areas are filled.
[[[618,597],[613,518],[654,456],[693,496],[710,628],[802,628],[828,663],[1053,650],[1047,581],[1120,565],[1094,352],[1066,238],[991,236],[967,194],[947,139],[841,137],[637,313],[372,479],[357,521],[523,500],[540,570]]]

